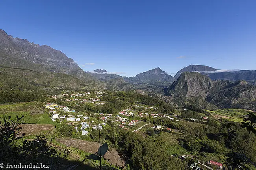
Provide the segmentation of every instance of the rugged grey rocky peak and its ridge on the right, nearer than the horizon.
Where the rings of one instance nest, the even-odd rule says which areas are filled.
[[[245,81],[233,83],[227,80],[211,80],[197,72],[184,72],[164,92],[176,103],[198,98],[220,108],[256,110],[256,87]]]

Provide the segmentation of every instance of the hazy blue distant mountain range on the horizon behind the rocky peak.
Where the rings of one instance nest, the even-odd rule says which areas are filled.
[[[97,69],[100,70],[100,69]],[[105,70],[106,71],[106,70]],[[97,72],[97,71],[95,71]],[[106,71],[107,72],[107,71]],[[174,80],[177,80],[178,77],[183,72],[198,72],[202,75],[207,75],[212,80],[248,80],[252,82],[256,82],[256,71],[255,70],[221,70],[215,69],[209,66],[201,66],[201,65],[189,65],[185,68],[180,69],[174,77],[169,75],[167,72],[161,70],[160,68],[155,68],[148,70],[143,73],[137,74],[135,77],[123,77],[126,82],[130,82],[133,84],[146,83],[146,82],[166,82],[171,83]],[[89,73],[89,72],[87,72]],[[99,73],[99,72],[98,72]],[[103,72],[102,72],[103,73]],[[91,73],[93,74],[93,73]],[[95,77],[101,80],[109,80],[117,77],[122,77],[115,74],[106,74],[106,75],[96,75]]]

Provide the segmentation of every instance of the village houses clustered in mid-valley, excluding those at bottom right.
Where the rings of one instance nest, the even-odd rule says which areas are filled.
[[[108,93],[102,91],[94,91],[93,93],[63,93],[51,97],[52,99],[63,101],[66,105],[70,105],[70,103],[72,103],[73,106],[80,106],[86,103],[104,105],[106,101],[102,101],[102,95],[108,95]],[[150,122],[150,119],[180,121],[177,117],[159,113],[156,106],[147,106],[143,104],[134,104],[117,113],[100,113],[100,111],[98,113],[79,112],[68,106],[58,105],[51,102],[47,102],[45,108],[52,121],[64,121],[70,126],[73,126],[76,133],[81,135],[89,135],[91,130],[96,130],[98,128],[102,130],[104,126],[108,126],[108,121],[114,123],[115,126],[118,126],[123,130],[132,130],[132,132],[136,132],[143,126],[148,126],[154,130],[177,132],[177,130],[165,127],[162,124],[154,124],[153,121]],[[183,111],[186,111],[186,109]],[[180,112],[182,113],[182,111]],[[202,117],[202,120],[205,119],[207,118]],[[187,120],[197,121],[198,119],[188,118]]]

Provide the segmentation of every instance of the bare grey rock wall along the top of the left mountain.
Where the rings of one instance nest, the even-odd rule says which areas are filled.
[[[2,29],[0,29],[0,51],[1,58],[3,55],[7,55],[53,68],[80,69],[72,58],[67,57],[61,51],[46,45],[39,46],[39,44],[31,43],[26,39],[13,38]]]

